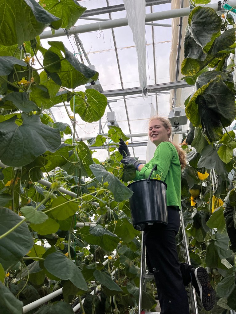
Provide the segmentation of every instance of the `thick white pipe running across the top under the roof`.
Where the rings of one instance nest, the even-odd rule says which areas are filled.
[[[236,0],[229,0],[227,4],[229,4],[231,7],[234,7],[236,5]],[[204,7],[213,8],[215,11],[217,11],[218,3],[206,4],[204,5]],[[223,10],[223,12],[224,11],[225,10]],[[182,16],[188,16],[190,12],[191,12],[191,9],[188,7],[188,8],[182,8],[182,9],[176,9],[176,10],[149,13],[149,14],[146,14],[145,22],[153,22],[153,21],[159,21],[159,20],[164,20],[164,19],[172,19],[172,18],[177,18],[177,17],[182,17]],[[98,31],[107,30],[107,29],[127,26],[127,25],[128,25],[128,20],[126,18],[108,20],[108,21],[85,24],[85,25],[78,25],[78,26],[71,27],[68,30],[68,35],[93,32],[96,30]],[[42,34],[39,36],[40,36],[40,39],[60,37],[60,36],[65,36],[65,32],[63,29],[59,29],[55,31],[54,35],[52,35],[51,30],[46,30],[42,32]]]

